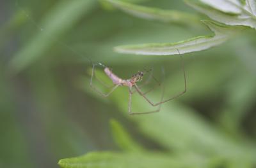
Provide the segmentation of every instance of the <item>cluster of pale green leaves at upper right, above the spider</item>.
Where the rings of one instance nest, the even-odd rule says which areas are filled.
[[[127,11],[132,15],[141,18],[150,18],[162,22],[175,21],[186,24],[198,24],[198,18],[188,15],[188,13],[175,12],[175,11],[162,11],[156,8],[147,8],[138,5],[124,3],[118,0],[106,0],[116,6],[120,10]],[[255,1],[245,1],[244,3],[238,1],[207,1],[202,0],[202,3],[194,2],[193,0],[186,1],[190,6],[196,10],[204,13],[213,20],[227,25],[244,25],[255,28]],[[205,3],[205,4],[203,4]],[[207,4],[207,5],[206,5]],[[233,15],[230,16],[230,13]],[[195,20],[195,22],[193,21]],[[192,21],[192,22],[191,22]],[[231,27],[221,24],[214,24],[211,21],[204,21],[211,31],[214,32],[214,38],[211,36],[198,36],[196,38],[180,41],[178,43],[159,43],[159,44],[146,44],[146,45],[128,45],[117,46],[116,52],[120,53],[134,53],[138,55],[175,55],[180,53],[198,52],[211,48],[212,46],[220,45],[226,41],[235,32],[241,31],[237,27]],[[214,25],[214,27],[212,27]]]

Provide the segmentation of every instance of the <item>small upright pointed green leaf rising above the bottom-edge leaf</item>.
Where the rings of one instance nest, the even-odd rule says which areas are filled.
[[[140,144],[136,143],[116,120],[110,121],[113,138],[118,146],[129,152],[144,151]]]

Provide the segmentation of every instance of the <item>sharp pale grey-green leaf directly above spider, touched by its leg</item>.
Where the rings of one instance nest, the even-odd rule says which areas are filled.
[[[182,53],[198,52],[220,45],[240,27],[230,27],[218,24],[210,20],[203,21],[205,25],[215,33],[215,36],[198,36],[196,38],[179,41],[177,43],[152,43],[144,45],[116,46],[115,51],[119,53],[132,53],[138,55],[175,55]]]

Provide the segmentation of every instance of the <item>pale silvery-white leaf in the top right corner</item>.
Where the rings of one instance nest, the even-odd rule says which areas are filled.
[[[221,1],[221,3],[218,3]],[[221,22],[227,25],[245,25],[256,29],[256,13],[255,13],[255,1],[246,1],[246,5],[242,6],[241,4],[236,4],[234,1],[204,1],[207,4],[213,6],[214,8],[218,8],[218,10],[211,8],[205,4],[194,2],[193,0],[186,0],[186,3],[189,6],[195,8],[196,10],[204,13],[208,17]],[[250,3],[249,3],[250,2]],[[232,6],[233,8],[227,8],[228,6]],[[221,11],[219,11],[221,10]],[[224,13],[223,11],[232,11],[234,15],[230,15],[230,13]]]

